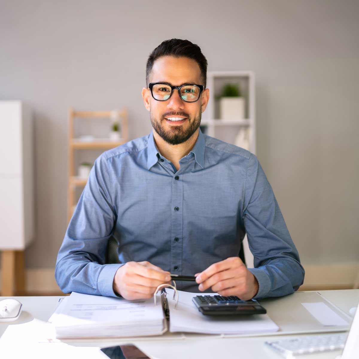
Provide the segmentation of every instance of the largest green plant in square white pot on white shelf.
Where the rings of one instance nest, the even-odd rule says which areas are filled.
[[[220,118],[238,120],[244,118],[244,98],[237,85],[225,84],[219,98]]]

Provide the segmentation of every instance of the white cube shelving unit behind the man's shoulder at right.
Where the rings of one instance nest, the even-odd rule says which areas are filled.
[[[245,99],[245,116],[238,119],[219,118],[218,95],[222,94],[225,84],[235,84]],[[256,111],[255,111],[255,75],[253,71],[208,71],[207,87],[210,99],[206,111],[202,113],[201,130],[205,134],[236,144],[235,137],[241,128],[249,131],[249,150],[256,154]],[[247,236],[243,240],[244,257],[248,268],[253,267],[253,255],[249,249]]]

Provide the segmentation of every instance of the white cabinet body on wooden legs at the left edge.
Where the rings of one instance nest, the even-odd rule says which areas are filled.
[[[0,250],[34,237],[33,121],[20,101],[0,101]]]

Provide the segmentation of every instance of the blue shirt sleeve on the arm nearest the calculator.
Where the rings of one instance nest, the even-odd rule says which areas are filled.
[[[253,154],[248,159],[242,219],[254,256],[254,268],[249,270],[259,285],[253,299],[294,293],[303,284],[304,268],[272,187]]]

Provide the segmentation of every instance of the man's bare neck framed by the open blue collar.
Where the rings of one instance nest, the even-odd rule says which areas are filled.
[[[180,169],[180,159],[190,153],[197,141],[198,134],[199,129],[197,129],[197,131],[186,142],[180,143],[179,145],[171,145],[163,140],[162,137],[160,137],[158,133],[153,130],[153,138],[157,149],[163,157],[167,158],[174,164],[177,171]]]

